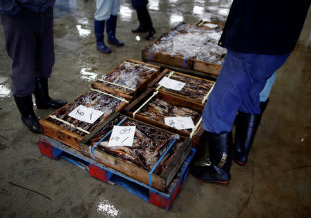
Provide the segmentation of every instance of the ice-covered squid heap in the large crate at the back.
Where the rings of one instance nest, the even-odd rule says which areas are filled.
[[[173,28],[154,43],[149,48],[149,52],[164,52],[171,57],[178,56],[223,64],[227,50],[218,46],[218,37],[222,32],[223,27],[220,25],[215,28],[202,28],[183,24]]]

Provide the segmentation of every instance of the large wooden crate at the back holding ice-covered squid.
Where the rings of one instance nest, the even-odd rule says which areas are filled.
[[[164,67],[169,69],[175,69],[176,67],[178,67],[185,68],[185,70],[193,70],[194,72],[191,71],[192,74],[196,74],[196,72],[203,72],[203,75],[205,74],[207,75],[207,77],[218,76],[222,64],[216,61],[197,59],[196,57],[191,57],[190,54],[175,55],[169,52],[158,50],[159,46],[162,43],[164,43],[165,41],[173,40],[176,35],[182,34],[187,31],[187,28],[193,28],[194,26],[196,26],[200,27],[203,30],[211,30],[211,28],[204,26],[205,23],[213,23],[221,27],[224,26],[223,23],[214,23],[202,20],[198,21],[194,25],[188,23],[178,23],[177,26],[173,27],[167,33],[162,34],[162,36],[158,40],[151,43],[149,46],[142,50],[142,60],[149,63],[161,63],[162,66],[164,64]],[[202,46],[202,51],[203,50],[206,50],[204,46]],[[198,75],[202,74],[199,73]]]

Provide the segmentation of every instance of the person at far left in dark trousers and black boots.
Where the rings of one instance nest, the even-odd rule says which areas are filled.
[[[1,21],[6,50],[12,59],[12,93],[21,120],[27,128],[41,133],[33,111],[32,94],[37,108],[61,108],[67,102],[51,99],[48,78],[55,62],[53,6],[55,0],[0,1]]]

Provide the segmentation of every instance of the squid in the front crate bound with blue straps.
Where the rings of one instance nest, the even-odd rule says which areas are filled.
[[[179,135],[173,135],[169,132],[152,128],[151,126],[144,125],[138,121],[125,119],[119,126],[136,126],[135,136],[133,140],[133,146],[113,146],[109,147],[108,135],[105,139],[100,141],[107,133],[113,129],[113,126],[117,125],[124,117],[120,116],[117,119],[111,121],[107,126],[102,128],[100,132],[97,132],[90,140],[90,146],[96,146],[96,148],[113,155],[131,161],[133,164],[150,171],[158,162],[160,157],[169,148],[171,143],[176,139],[171,149],[167,152],[167,155],[160,161],[160,164],[154,171],[156,175],[160,175],[169,161],[173,159],[174,154],[181,146]]]

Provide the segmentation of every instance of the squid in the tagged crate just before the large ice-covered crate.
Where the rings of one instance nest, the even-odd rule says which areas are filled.
[[[163,86],[160,86],[158,84],[159,81],[163,77],[169,77],[170,79],[186,82],[186,85],[180,91],[171,90],[169,88],[164,88]],[[190,83],[195,83],[196,87],[191,86]],[[169,93],[171,95],[176,95],[177,97],[180,97],[182,99],[187,99],[189,101],[194,101],[196,103],[201,103],[204,105],[207,98],[209,97],[209,94],[211,93],[211,90],[214,88],[214,84],[215,84],[214,81],[202,79],[199,77],[193,77],[191,75],[185,75],[180,72],[165,69],[161,72],[160,75],[158,75],[156,79],[154,79],[151,83],[149,83],[149,87],[156,88],[157,90],[160,90],[161,92]],[[205,87],[209,86],[209,88],[204,88],[205,90],[203,90],[202,88],[203,85]],[[189,95],[185,94],[185,90],[189,90],[188,92]]]

